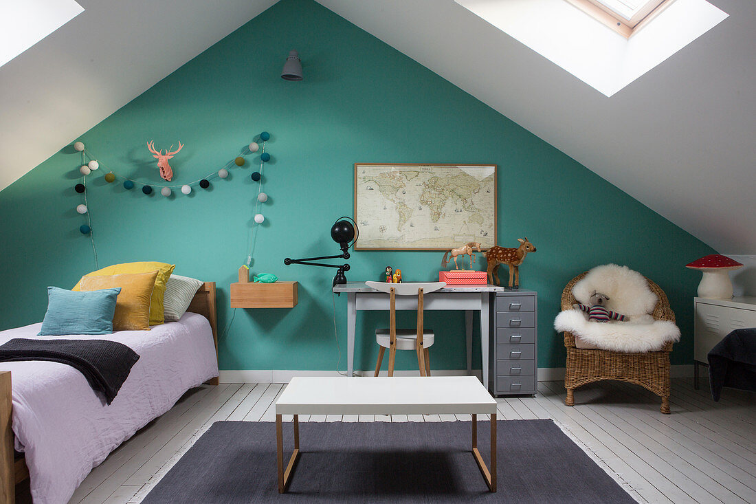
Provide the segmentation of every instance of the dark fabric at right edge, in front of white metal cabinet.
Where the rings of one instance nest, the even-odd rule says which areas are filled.
[[[756,328],[736,329],[708,353],[711,397],[722,387],[756,390]]]

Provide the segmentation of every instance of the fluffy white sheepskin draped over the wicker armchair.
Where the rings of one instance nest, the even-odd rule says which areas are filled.
[[[596,266],[572,288],[579,303],[589,304],[590,294],[609,296],[609,310],[630,316],[628,322],[588,322],[580,310],[565,310],[556,316],[556,331],[569,331],[584,342],[603,350],[644,353],[660,350],[668,341],[680,340],[674,322],[655,320],[652,313],[657,297],[646,278],[627,266]]]

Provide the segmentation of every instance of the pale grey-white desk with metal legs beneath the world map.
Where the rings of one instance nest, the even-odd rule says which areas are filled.
[[[426,310],[463,310],[467,336],[467,372],[472,374],[472,312],[480,312],[480,353],[483,383],[488,384],[488,320],[491,313],[491,292],[504,291],[497,285],[447,285],[423,296]],[[367,287],[364,282],[348,282],[333,287],[333,292],[346,294],[346,375],[355,369],[355,328],[358,310],[389,310],[389,294]],[[398,297],[397,310],[417,310],[417,297]],[[371,334],[371,338],[374,335]]]

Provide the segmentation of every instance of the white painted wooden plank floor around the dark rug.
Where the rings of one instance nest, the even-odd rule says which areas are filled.
[[[140,502],[212,422],[274,421],[272,405],[283,387],[248,383],[191,390],[91,471],[70,503]],[[564,406],[564,397],[562,382],[541,382],[536,397],[498,399],[500,418],[552,418],[639,502],[756,502],[756,394],[725,389],[714,403],[705,384],[694,390],[692,379],[677,379],[671,415],[662,415],[658,398],[645,389],[620,382],[576,390],[572,408]],[[311,415],[301,421],[469,419]]]

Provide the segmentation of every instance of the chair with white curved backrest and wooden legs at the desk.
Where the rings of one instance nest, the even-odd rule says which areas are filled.
[[[389,349],[389,376],[394,375],[394,362],[396,350],[415,350],[417,352],[417,367],[420,376],[430,376],[430,356],[428,349],[432,346],[435,334],[431,329],[423,327],[423,295],[438,291],[446,286],[446,282],[418,282],[389,284],[386,282],[365,282],[368,287],[376,291],[389,293],[389,328],[376,329],[376,343],[378,350],[378,362],[376,363],[375,376],[380,372],[383,361],[383,353]],[[396,328],[396,296],[417,295],[417,329]]]

